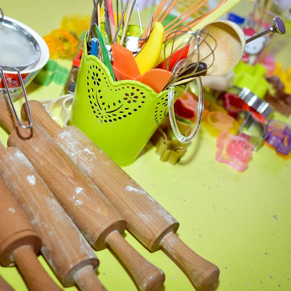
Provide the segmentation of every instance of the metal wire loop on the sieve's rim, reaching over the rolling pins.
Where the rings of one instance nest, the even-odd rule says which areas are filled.
[[[3,66],[3,67],[6,67],[6,66]],[[21,78],[21,74],[20,74],[20,71],[16,68],[16,67],[9,67],[9,68],[12,68],[14,70],[16,70],[17,72],[17,75],[18,75],[18,79],[20,81],[20,84],[21,84],[21,88],[22,88],[22,91],[23,91],[23,95],[24,95],[24,99],[25,99],[25,104],[26,104],[26,108],[27,108],[27,112],[28,112],[28,116],[29,116],[29,121],[30,121],[30,124],[27,126],[27,125],[24,125],[20,119],[18,118],[18,115],[16,113],[16,109],[14,107],[14,104],[13,104],[13,100],[12,100],[12,97],[11,97],[11,94],[10,94],[10,91],[9,91],[9,88],[8,88],[8,84],[7,84],[7,81],[5,79],[5,76],[4,76],[4,71],[2,69],[2,67],[0,66],[0,72],[1,72],[1,76],[2,76],[2,80],[3,80],[3,83],[4,83],[4,86],[5,86],[5,89],[6,89],[6,92],[7,92],[7,95],[9,97],[9,100],[10,100],[10,104],[11,104],[11,107],[12,107],[12,110],[13,110],[13,113],[16,117],[16,120],[17,120],[17,123],[23,128],[23,129],[31,129],[32,126],[33,126],[33,121],[32,121],[32,112],[31,112],[31,109],[30,109],[30,106],[29,106],[29,103],[28,103],[28,99],[27,99],[27,95],[26,95],[26,92],[25,92],[25,88],[24,88],[24,83],[23,83],[23,80]]]

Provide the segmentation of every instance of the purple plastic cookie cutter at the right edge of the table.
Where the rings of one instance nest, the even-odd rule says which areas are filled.
[[[268,121],[266,142],[273,146],[277,153],[288,155],[291,151],[291,126],[271,119]]]

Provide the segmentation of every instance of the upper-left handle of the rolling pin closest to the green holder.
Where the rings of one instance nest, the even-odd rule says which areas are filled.
[[[62,128],[49,116],[39,101],[29,101],[29,105],[32,111],[32,118],[46,129],[52,138],[54,138]],[[21,107],[21,116],[25,120],[28,120],[28,112],[25,103]]]

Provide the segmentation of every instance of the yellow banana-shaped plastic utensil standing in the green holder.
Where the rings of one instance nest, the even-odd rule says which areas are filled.
[[[164,28],[161,22],[156,22],[148,41],[141,52],[135,57],[141,75],[154,68],[162,49]]]

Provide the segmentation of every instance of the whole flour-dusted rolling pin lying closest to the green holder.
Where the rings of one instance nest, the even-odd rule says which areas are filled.
[[[30,101],[34,120],[97,185],[128,222],[128,229],[151,251],[163,247],[199,289],[214,285],[219,269],[198,256],[175,234],[178,221],[74,126],[62,129],[38,101]],[[22,116],[26,110],[22,107]]]

